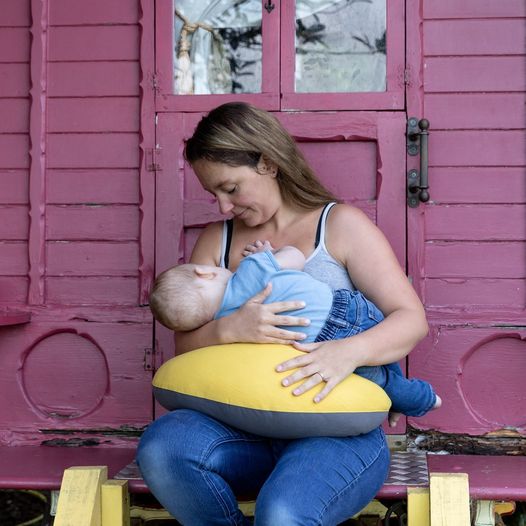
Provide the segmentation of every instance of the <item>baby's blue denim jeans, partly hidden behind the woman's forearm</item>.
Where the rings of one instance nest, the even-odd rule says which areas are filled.
[[[374,327],[383,319],[378,307],[360,292],[336,290],[331,311],[316,341],[348,338]],[[436,394],[431,385],[418,378],[409,380],[397,363],[358,367],[354,372],[384,389],[392,402],[391,411],[422,416],[435,405]]]

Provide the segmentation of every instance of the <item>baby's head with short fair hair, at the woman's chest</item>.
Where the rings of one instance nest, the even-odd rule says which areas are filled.
[[[150,293],[155,319],[174,331],[191,331],[214,318],[232,273],[192,263],[165,270]]]

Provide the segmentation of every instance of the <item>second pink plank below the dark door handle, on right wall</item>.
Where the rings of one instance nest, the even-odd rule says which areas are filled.
[[[429,242],[425,273],[444,278],[524,278],[526,246],[519,242]]]

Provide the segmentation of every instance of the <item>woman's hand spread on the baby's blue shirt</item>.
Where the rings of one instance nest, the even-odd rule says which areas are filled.
[[[308,326],[310,320],[281,314],[305,307],[303,301],[278,301],[264,303],[272,291],[269,283],[261,292],[249,299],[237,312],[228,316],[231,319],[229,330],[231,342],[284,343],[290,344],[305,338],[301,332],[288,331],[281,326]],[[225,318],[225,320],[227,319]]]

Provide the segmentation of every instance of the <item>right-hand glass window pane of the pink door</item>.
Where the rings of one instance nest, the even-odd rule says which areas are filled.
[[[386,0],[296,1],[296,92],[386,90]]]

